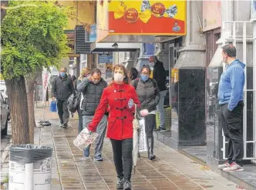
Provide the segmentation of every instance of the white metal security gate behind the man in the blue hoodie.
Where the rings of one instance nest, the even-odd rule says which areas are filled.
[[[242,27],[241,27],[242,26]],[[237,42],[242,43],[242,62],[247,64],[247,45],[248,42],[253,42],[253,52],[256,51],[256,26],[254,26],[254,31],[249,31],[248,28],[252,28],[253,22],[223,22],[222,23],[222,30],[223,30],[223,39],[224,44],[232,43],[234,46],[237,45]],[[237,29],[238,27],[242,28]],[[246,80],[247,76],[247,66],[244,69],[245,72],[245,85],[244,85],[244,112],[243,112],[243,138],[244,138],[244,159],[245,160],[254,160],[256,159],[256,55],[253,54],[254,62],[253,62],[253,85],[251,88],[248,88],[248,82]],[[223,65],[223,71],[225,70],[225,65]],[[250,81],[251,82],[251,81]],[[250,86],[250,85],[249,85]],[[251,93],[252,92],[252,93]],[[253,106],[252,106],[252,119],[253,119],[253,126],[252,126],[252,139],[248,139],[248,93],[252,94],[253,96]],[[222,131],[223,136],[223,158],[226,158],[226,138],[224,136],[224,132]],[[248,155],[248,147],[252,150],[252,153]]]

